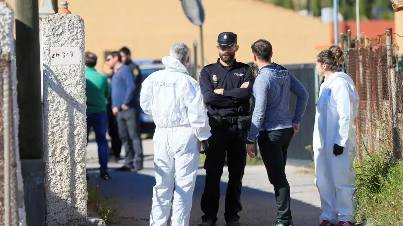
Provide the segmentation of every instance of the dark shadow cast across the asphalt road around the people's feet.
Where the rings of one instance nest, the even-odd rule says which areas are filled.
[[[97,169],[87,169],[98,175]],[[107,198],[110,207],[116,208],[120,215],[120,222],[111,225],[143,226],[149,225],[149,215],[152,204],[153,186],[155,180],[153,169],[146,169],[145,174],[133,174],[130,172],[117,172],[110,169],[113,177],[110,181],[104,181],[99,177],[90,176],[90,183],[97,183],[102,192],[101,196]],[[146,175],[149,174],[149,175]],[[259,181],[256,181],[259,183]],[[189,225],[197,225],[203,212],[200,210],[200,197],[203,193],[205,175],[198,175],[193,194],[193,205]],[[267,187],[270,187],[267,184]],[[221,185],[220,210],[217,225],[225,225],[224,221],[224,194],[227,183]],[[291,187],[291,190],[293,188]],[[241,201],[243,209],[240,212],[241,221],[245,226],[267,225],[276,219],[276,201],[274,193],[262,190],[242,187]],[[291,200],[294,224],[298,226],[316,225],[320,209],[309,203],[296,199]],[[168,224],[169,225],[169,224]]]

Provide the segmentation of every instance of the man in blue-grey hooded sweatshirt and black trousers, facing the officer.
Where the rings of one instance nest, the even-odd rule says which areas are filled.
[[[290,185],[285,173],[287,148],[299,131],[308,92],[289,70],[272,62],[270,42],[260,39],[251,48],[259,72],[253,85],[256,102],[246,151],[254,158],[253,143],[259,135],[257,142],[261,157],[268,179],[274,186],[278,206],[277,220],[270,225],[291,226]],[[297,96],[294,119],[289,111],[290,92]]]

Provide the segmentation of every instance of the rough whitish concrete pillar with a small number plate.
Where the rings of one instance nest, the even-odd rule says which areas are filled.
[[[81,225],[87,217],[84,20],[42,19],[46,225]]]

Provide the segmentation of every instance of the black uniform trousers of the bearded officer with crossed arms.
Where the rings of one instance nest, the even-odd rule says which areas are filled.
[[[242,178],[246,165],[246,136],[247,131],[238,129],[238,125],[222,123],[220,126],[211,125],[209,150],[206,154],[204,168],[206,169],[206,182],[201,196],[201,210],[205,213],[203,221],[208,219],[217,221],[217,212],[220,201],[220,180],[223,174],[225,157],[229,180],[225,195],[225,220],[239,220],[241,211]]]

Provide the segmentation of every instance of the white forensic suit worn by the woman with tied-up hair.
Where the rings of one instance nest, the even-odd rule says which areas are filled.
[[[312,148],[315,157],[316,186],[320,194],[320,221],[354,222],[356,175],[356,133],[353,128],[359,97],[353,80],[335,72],[322,83],[316,106]],[[342,155],[333,146],[344,147]]]

